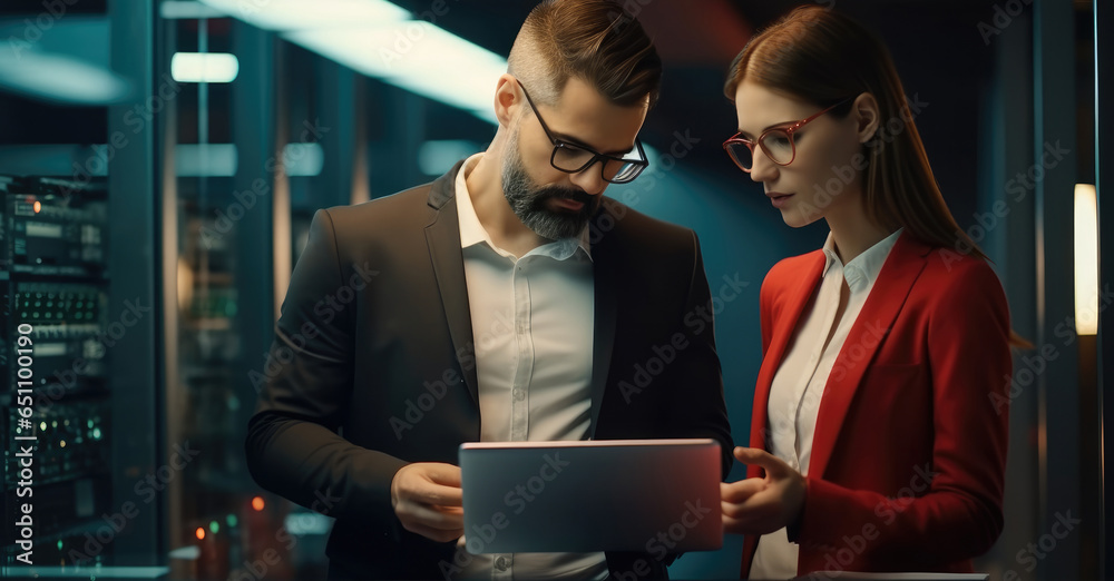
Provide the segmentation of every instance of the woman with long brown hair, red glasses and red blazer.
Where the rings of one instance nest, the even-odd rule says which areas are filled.
[[[722,485],[742,577],[971,571],[1003,528],[1006,297],[944,203],[889,52],[799,8],[751,39],[725,93],[731,159],[785,224],[824,220],[760,294],[747,479]]]

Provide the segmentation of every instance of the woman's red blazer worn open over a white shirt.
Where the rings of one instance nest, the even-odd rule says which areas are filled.
[[[769,450],[770,385],[823,265],[821,250],[786,258],[762,284],[753,447]],[[790,526],[798,574],[971,571],[1003,526],[1008,339],[990,266],[902,233],[824,388],[804,509]],[[762,475],[749,466],[747,477]],[[756,544],[744,544],[744,578]]]

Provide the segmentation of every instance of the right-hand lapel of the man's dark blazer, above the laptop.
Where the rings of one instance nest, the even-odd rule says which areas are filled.
[[[597,216],[608,209],[609,200],[604,198],[603,207]],[[615,289],[615,268],[612,267],[612,246],[608,237],[602,236],[592,245],[593,293],[593,337],[592,337],[592,424],[588,437],[596,437],[596,425],[599,418],[599,407],[604,401],[604,387],[607,385],[607,373],[610,370],[612,349],[615,345],[615,311],[618,308]]]

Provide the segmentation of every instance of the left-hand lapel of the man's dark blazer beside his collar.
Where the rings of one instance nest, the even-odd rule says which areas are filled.
[[[457,219],[457,173],[463,161],[433,181],[429,191],[430,223],[426,226],[426,244],[441,295],[441,306],[449,324],[453,353],[465,376],[472,401],[479,405],[476,380],[476,347],[472,344],[472,317],[468,307],[465,259],[460,252],[460,224]]]

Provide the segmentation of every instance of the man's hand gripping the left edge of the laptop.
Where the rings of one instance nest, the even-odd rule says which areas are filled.
[[[417,462],[402,466],[391,481],[391,506],[402,526],[440,543],[465,534],[460,466]]]

